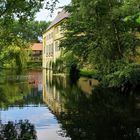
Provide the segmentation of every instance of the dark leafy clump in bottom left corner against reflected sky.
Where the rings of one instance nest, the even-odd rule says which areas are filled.
[[[0,140],[36,140],[34,125],[28,120],[19,122],[8,122],[0,126]]]

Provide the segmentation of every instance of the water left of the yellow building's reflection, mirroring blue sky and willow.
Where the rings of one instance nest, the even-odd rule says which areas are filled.
[[[30,70],[21,75],[17,75],[15,71],[0,71],[0,75],[2,124],[29,120],[35,126],[37,140],[68,140],[59,136],[60,124],[43,103],[42,71]],[[32,138],[24,140],[30,139]]]

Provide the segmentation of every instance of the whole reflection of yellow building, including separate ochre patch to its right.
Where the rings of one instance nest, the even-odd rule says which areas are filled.
[[[52,71],[43,69],[43,101],[55,114],[66,113],[65,102],[70,95],[84,92],[87,96],[98,82],[94,79],[80,78],[77,85],[70,86],[69,79],[54,76]],[[68,97],[67,97],[68,96]]]

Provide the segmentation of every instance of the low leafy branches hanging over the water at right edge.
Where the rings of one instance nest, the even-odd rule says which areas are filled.
[[[111,87],[125,87],[131,85],[139,85],[140,82],[140,65],[129,64],[106,75],[103,83]]]

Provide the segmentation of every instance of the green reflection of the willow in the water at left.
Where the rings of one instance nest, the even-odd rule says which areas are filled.
[[[0,72],[0,107],[7,108],[13,104],[23,106],[27,102],[26,96],[30,96],[31,87],[28,83],[26,72],[17,75],[16,71]],[[34,100],[35,98],[32,98]],[[38,98],[35,100],[39,100]],[[30,101],[28,101],[29,103]],[[33,101],[32,101],[33,102]],[[38,102],[38,101],[35,101]]]

